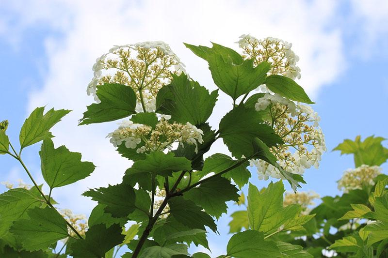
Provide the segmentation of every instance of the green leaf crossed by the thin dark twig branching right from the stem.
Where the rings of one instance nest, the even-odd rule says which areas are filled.
[[[233,160],[231,157],[222,154],[216,153],[208,157],[202,168],[202,171],[199,171],[201,176],[205,176],[210,172],[219,173],[229,167],[232,167],[238,162],[238,160]],[[232,170],[226,172],[222,176],[227,179],[233,179],[233,181],[240,187],[248,183],[249,178],[251,177],[251,172],[246,168],[249,163],[246,162],[239,167],[233,168]]]

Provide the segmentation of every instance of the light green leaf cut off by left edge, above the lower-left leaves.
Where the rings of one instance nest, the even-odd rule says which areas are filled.
[[[40,207],[42,197],[35,187],[10,189],[0,195],[0,237],[8,232],[12,223],[19,218],[27,218],[29,209]]]

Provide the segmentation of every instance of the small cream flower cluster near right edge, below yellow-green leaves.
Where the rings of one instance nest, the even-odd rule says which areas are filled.
[[[363,185],[373,185],[373,179],[381,174],[381,167],[361,165],[357,168],[349,168],[338,181],[338,189],[347,193],[350,190],[362,189]]]

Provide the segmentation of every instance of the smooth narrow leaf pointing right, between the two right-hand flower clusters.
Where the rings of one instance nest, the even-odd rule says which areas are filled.
[[[271,75],[265,79],[264,83],[270,91],[273,91],[282,97],[293,101],[314,104],[307,96],[305,90],[289,77]]]

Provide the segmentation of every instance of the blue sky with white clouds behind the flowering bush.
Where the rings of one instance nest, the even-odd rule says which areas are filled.
[[[161,2],[164,6],[156,8]],[[112,6],[100,1],[0,3],[0,120],[10,121],[7,133],[11,140],[17,145],[18,130],[35,106],[74,109],[63,125],[54,128],[54,142],[82,152],[85,160],[99,166],[90,179],[54,192],[54,198],[64,205],[62,208],[88,214],[93,203],[79,197],[80,193],[87,187],[118,182],[130,165],[114,153],[104,138],[114,123],[76,126],[85,106],[92,102],[86,96],[86,85],[93,76],[94,59],[114,44],[165,40],[173,50],[177,49],[191,76],[213,89],[206,64],[181,46],[182,41],[206,45],[211,40],[237,49],[233,42],[240,34],[251,33],[258,38],[275,36],[292,42],[301,59],[299,83],[316,102],[314,109],[322,118],[320,124],[328,148],[320,168],[305,173],[307,185],[303,189],[321,196],[339,193],[336,181],[345,169],[354,167],[351,156],[330,150],[344,138],[354,139],[357,135],[388,138],[388,6],[384,0],[340,4],[295,1],[259,18],[254,11],[272,8],[270,4],[231,1],[229,5],[201,2],[189,6],[161,2],[117,1]],[[187,9],[192,11],[189,15],[185,15]],[[166,10],[176,21],[170,23]],[[235,18],[233,23],[226,18],[230,16]],[[222,109],[223,105],[226,100],[221,99],[218,107]],[[220,112],[212,119],[218,121],[222,115]],[[43,182],[38,150],[39,146],[34,145],[23,155],[32,173]],[[383,171],[387,168],[384,165]],[[29,182],[11,157],[0,156],[0,173],[0,181],[16,182],[21,178]],[[252,175],[257,185],[268,183],[256,180],[254,171]],[[1,185],[0,192],[4,190]],[[229,212],[235,209],[232,205]],[[228,222],[228,215],[224,215],[219,221],[221,236],[210,235],[213,255],[225,250],[223,246],[230,237]]]

